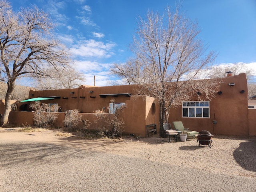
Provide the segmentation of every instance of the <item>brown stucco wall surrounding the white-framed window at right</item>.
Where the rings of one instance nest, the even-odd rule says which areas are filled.
[[[248,91],[245,74],[226,77],[221,85],[221,95],[216,94],[210,101],[210,118],[182,118],[182,108],[170,111],[169,122],[182,121],[185,128],[213,134],[248,135],[247,103]],[[229,83],[235,83],[229,86]],[[244,93],[240,93],[244,90]],[[212,120],[217,120],[213,125]]]

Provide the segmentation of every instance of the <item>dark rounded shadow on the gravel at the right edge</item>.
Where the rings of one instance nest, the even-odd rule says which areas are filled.
[[[256,140],[241,142],[234,150],[236,162],[248,171],[256,172]]]

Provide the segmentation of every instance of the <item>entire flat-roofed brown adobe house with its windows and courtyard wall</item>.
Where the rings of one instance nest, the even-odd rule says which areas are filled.
[[[256,110],[248,108],[248,91],[245,74],[221,79],[220,90],[215,98],[208,101],[184,101],[178,108],[170,111],[169,122],[182,121],[185,128],[212,134],[256,135]],[[58,106],[58,119],[55,126],[64,126],[65,110],[78,109],[83,119],[96,120],[95,110],[112,113],[115,106],[126,105],[122,110],[125,122],[124,132],[136,136],[149,136],[150,130],[159,131],[159,104],[155,98],[136,95],[138,85],[123,86],[80,86],[66,90],[30,90],[29,98],[54,98],[44,103]],[[110,101],[114,99],[113,101]],[[18,103],[17,111],[10,113],[9,122],[13,124],[33,124],[30,102]],[[0,103],[0,110],[3,109]],[[2,110],[1,110],[2,111]],[[1,112],[0,111],[0,112]],[[214,124],[213,123],[216,123]],[[156,132],[154,131],[156,134]]]

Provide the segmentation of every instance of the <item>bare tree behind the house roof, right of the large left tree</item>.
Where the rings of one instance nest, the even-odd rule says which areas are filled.
[[[38,90],[72,89],[79,87],[85,80],[84,73],[72,67],[60,68],[54,71],[49,70],[49,74],[38,78],[35,87]]]

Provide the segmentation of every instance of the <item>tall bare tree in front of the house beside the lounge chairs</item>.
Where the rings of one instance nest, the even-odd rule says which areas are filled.
[[[198,37],[200,30],[179,8],[166,8],[163,15],[148,12],[146,20],[139,17],[138,29],[131,46],[147,73],[149,84],[142,84],[140,94],[159,99],[160,136],[165,136],[162,123],[168,122],[172,106],[184,100],[212,99],[218,80],[195,80],[216,58]]]

